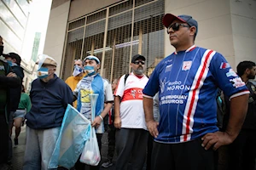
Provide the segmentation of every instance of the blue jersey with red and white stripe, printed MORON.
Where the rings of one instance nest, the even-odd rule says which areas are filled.
[[[155,141],[181,143],[218,131],[217,88],[230,99],[249,93],[223,55],[215,51],[194,45],[163,59],[143,89],[148,98],[159,91],[160,124]]]

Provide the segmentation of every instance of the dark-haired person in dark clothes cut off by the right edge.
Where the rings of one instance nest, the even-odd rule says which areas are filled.
[[[250,92],[246,119],[241,132],[229,147],[229,169],[254,170],[256,159],[256,87],[249,79],[256,75],[256,65],[252,61],[242,61],[236,66],[237,74],[246,83]],[[227,102],[229,109],[229,102]],[[229,111],[227,111],[229,112]],[[229,115],[228,115],[229,116]],[[225,121],[224,125],[226,125]]]

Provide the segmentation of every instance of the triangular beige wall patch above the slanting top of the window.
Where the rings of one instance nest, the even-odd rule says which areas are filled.
[[[74,20],[96,11],[97,9],[107,7],[120,0],[74,0],[70,6],[70,14],[68,20]]]

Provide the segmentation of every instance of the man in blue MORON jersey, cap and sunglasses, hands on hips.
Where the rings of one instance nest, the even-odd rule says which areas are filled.
[[[148,131],[154,136],[153,170],[211,170],[214,150],[236,139],[247,112],[248,90],[222,54],[195,47],[198,24],[192,16],[166,14],[163,24],[176,52],[155,67],[143,90]],[[216,94],[229,96],[225,132],[217,127]],[[153,118],[159,92],[160,122]]]

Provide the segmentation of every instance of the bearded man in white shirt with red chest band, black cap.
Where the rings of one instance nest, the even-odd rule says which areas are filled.
[[[145,57],[131,59],[131,74],[120,77],[114,93],[114,127],[116,131],[116,170],[125,169],[131,158],[131,169],[143,169],[148,131],[143,110],[143,88],[148,77],[143,74]],[[126,80],[125,80],[126,79]]]

